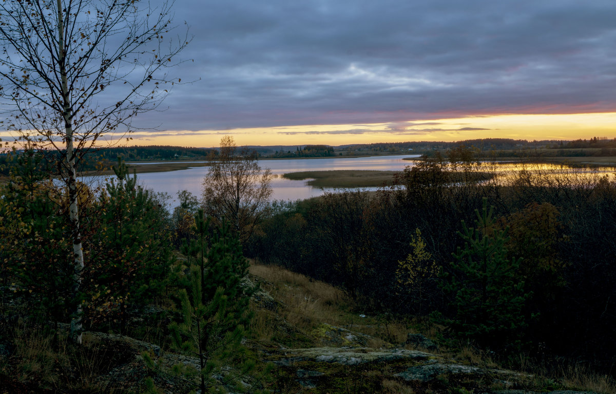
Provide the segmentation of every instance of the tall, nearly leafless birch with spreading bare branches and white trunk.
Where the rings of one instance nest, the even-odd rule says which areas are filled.
[[[129,138],[131,118],[168,92],[165,69],[188,43],[171,38],[170,3],[139,0],[4,0],[0,3],[0,105],[22,144],[56,152],[74,258],[84,269],[77,168],[88,150]],[[169,36],[169,38],[168,38]],[[68,251],[67,251],[68,252]],[[81,343],[81,306],[71,335]]]

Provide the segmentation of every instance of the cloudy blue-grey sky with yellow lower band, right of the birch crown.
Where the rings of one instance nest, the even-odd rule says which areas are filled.
[[[176,0],[139,144],[615,137],[614,0]],[[181,27],[177,30],[181,32]]]

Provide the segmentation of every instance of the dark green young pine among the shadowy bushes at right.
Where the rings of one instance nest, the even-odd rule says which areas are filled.
[[[434,314],[458,339],[492,348],[519,349],[527,322],[523,313],[524,282],[516,276],[520,259],[506,257],[507,230],[494,226],[492,208],[484,199],[476,210],[476,228],[462,221],[464,248],[453,253],[442,289],[450,298],[447,317]]]

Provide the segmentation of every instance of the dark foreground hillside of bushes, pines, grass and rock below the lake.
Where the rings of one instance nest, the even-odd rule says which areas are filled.
[[[614,178],[503,179],[468,153],[229,217],[216,190],[170,213],[118,162],[79,185],[78,287],[65,197],[18,154],[0,189],[2,394],[613,391]]]

